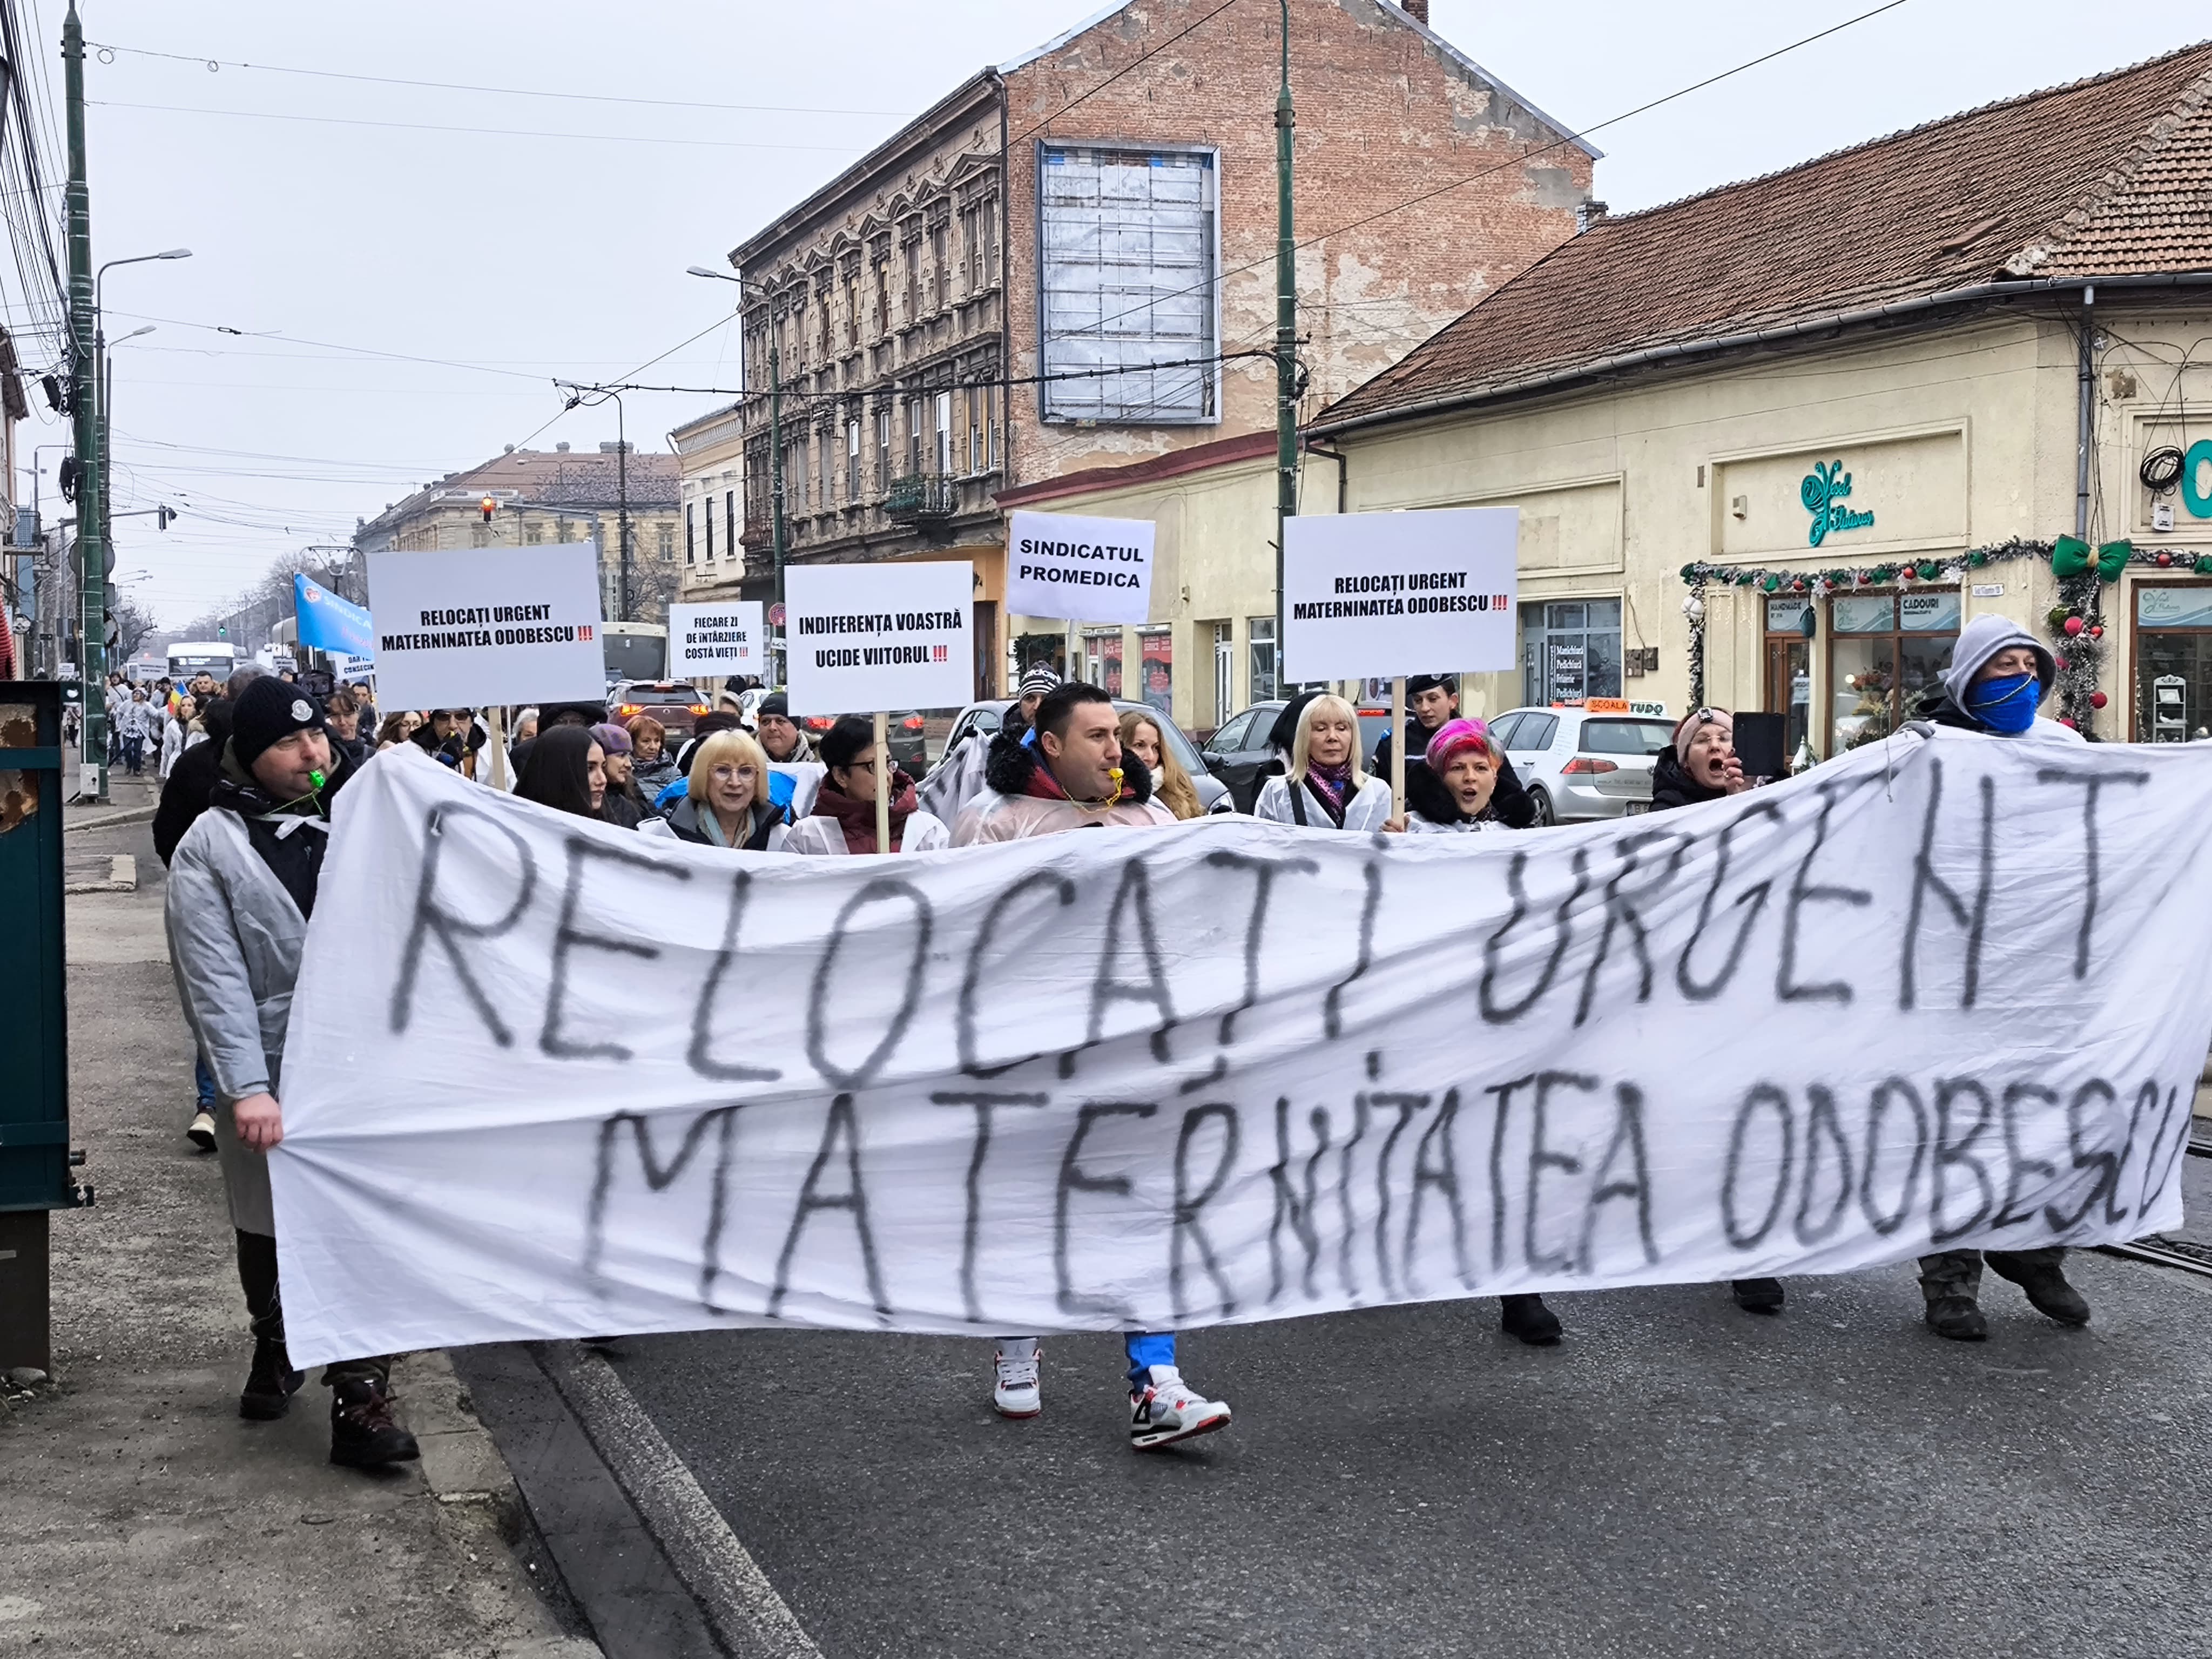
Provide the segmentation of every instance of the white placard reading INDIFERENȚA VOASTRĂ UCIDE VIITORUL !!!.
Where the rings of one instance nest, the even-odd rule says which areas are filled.
[[[794,714],[960,708],[975,695],[975,566],[794,564],[783,571]]]

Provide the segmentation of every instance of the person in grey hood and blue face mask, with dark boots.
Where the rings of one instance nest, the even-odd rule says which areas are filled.
[[[1951,648],[1951,666],[1938,675],[1940,690],[1920,699],[1918,717],[1989,737],[2031,743],[2084,743],[2070,726],[2037,717],[2059,666],[2051,648],[2017,622],[1975,617]],[[1920,1294],[1927,1323],[1953,1343],[1989,1336],[1982,1318],[1982,1263],[2020,1285],[2037,1312],[2059,1325],[2088,1325],[2088,1298],[2066,1283],[2064,1245],[2039,1250],[1938,1250],[1920,1256]]]

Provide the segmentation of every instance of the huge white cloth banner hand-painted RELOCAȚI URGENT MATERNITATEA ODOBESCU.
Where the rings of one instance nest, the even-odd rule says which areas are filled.
[[[292,1002],[292,1356],[2132,1239],[2181,1217],[2208,814],[2212,745],[1936,732],[1610,825],[794,858],[400,745]]]

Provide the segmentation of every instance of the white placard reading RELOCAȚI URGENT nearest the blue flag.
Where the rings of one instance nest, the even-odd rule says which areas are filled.
[[[369,615],[387,708],[606,695],[597,542],[369,553]]]

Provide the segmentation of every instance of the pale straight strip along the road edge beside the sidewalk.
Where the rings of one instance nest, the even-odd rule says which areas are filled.
[[[799,1626],[790,1604],[737,1542],[730,1522],[699,1489],[615,1367],[568,1343],[540,1345],[538,1363],[730,1648],[774,1659],[821,1659],[821,1648]]]

